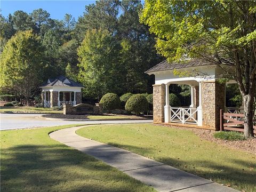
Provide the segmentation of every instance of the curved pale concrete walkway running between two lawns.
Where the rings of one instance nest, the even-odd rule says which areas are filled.
[[[86,139],[76,134],[85,126],[70,127],[52,132],[50,137],[83,153],[89,154],[158,191],[231,192],[232,188],[181,171],[172,166],[142,157],[130,151]]]

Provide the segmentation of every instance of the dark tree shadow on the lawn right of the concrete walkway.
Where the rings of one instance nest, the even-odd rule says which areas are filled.
[[[218,183],[229,183],[231,187],[238,187],[239,189],[247,188],[246,191],[256,191],[255,178],[256,178],[256,163],[248,161],[242,161],[234,158],[227,158],[226,161],[229,161],[233,166],[224,166],[219,162],[214,161],[202,161],[197,159],[196,161],[182,161],[178,158],[170,157],[156,157],[156,149],[154,148],[142,148],[132,145],[120,145],[119,143],[109,142],[108,145],[115,146],[118,148],[123,148],[130,150],[133,153],[145,157],[154,157],[152,158],[155,161],[176,167],[180,170],[198,175],[205,179],[211,179]],[[210,153],[210,152],[209,152]],[[237,168],[240,165],[247,167],[247,169]]]

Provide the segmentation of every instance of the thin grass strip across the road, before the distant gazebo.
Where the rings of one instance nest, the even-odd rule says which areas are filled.
[[[0,113],[15,113],[16,111],[24,111],[27,113],[63,113],[63,110],[52,110],[52,108],[43,108],[43,107],[1,107]]]

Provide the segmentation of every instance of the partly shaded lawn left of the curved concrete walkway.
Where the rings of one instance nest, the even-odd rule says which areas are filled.
[[[154,191],[48,135],[69,126],[1,131],[1,191]]]

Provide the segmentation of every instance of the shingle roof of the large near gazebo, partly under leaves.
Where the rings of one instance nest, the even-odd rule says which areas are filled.
[[[182,69],[187,67],[198,67],[198,66],[206,66],[213,65],[210,62],[206,62],[202,59],[189,59],[186,62],[173,62],[169,63],[167,60],[158,63],[156,66],[148,69],[145,73],[152,73],[155,71],[163,71],[163,70],[173,70],[173,69]]]

